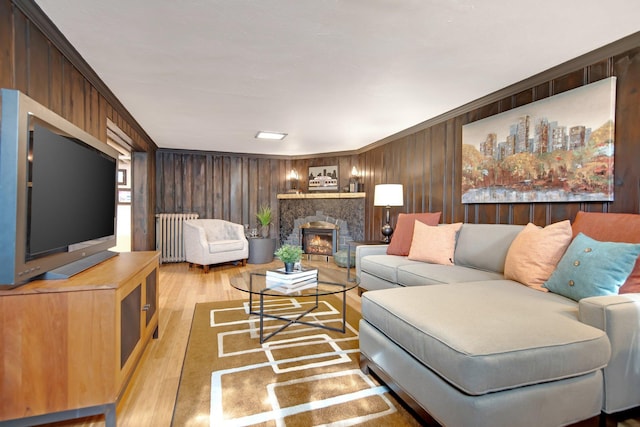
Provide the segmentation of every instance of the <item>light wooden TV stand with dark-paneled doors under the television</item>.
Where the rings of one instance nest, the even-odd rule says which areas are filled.
[[[0,291],[0,426],[105,414],[158,336],[158,253]]]

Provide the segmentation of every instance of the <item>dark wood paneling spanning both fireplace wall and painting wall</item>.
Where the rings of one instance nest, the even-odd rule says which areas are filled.
[[[622,46],[622,47],[621,47]],[[632,46],[629,48],[629,46]],[[614,53],[612,53],[614,52]],[[587,62],[587,63],[585,63]],[[578,65],[575,65],[578,64]],[[610,76],[617,76],[615,201],[610,203],[462,204],[462,126]],[[640,36],[634,35],[541,73],[469,106],[401,132],[357,153],[265,158],[229,153],[159,150],[156,212],[198,212],[203,217],[255,224],[258,206],[277,212],[275,195],[289,189],[292,168],[306,188],[310,166],[339,165],[340,187],[352,166],[367,192],[365,238],[380,237],[383,209],[373,206],[375,184],[401,183],[399,212],[442,212],[443,222],[546,225],[579,210],[640,213]],[[277,218],[275,227],[278,227]],[[276,228],[277,229],[277,228]]]

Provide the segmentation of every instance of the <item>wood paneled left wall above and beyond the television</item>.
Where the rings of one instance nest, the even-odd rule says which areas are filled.
[[[155,188],[155,143],[32,0],[0,0],[0,87],[23,92],[105,143],[110,119],[131,138],[132,151],[152,154],[152,173],[133,175],[145,183],[140,188]],[[154,197],[153,191],[137,195]],[[155,249],[153,234],[144,234],[155,230],[153,212],[135,200],[133,219],[147,227],[132,229],[133,249]]]

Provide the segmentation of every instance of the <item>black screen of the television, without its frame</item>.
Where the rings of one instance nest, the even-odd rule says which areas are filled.
[[[115,159],[38,124],[30,139],[27,259],[115,234]]]

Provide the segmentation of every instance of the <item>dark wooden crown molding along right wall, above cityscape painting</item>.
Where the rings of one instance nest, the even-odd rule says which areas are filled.
[[[439,123],[446,122],[447,120],[450,120],[450,119],[455,119],[456,117],[462,114],[465,114],[469,111],[486,106],[493,102],[500,101],[513,94],[520,93],[525,90],[529,90],[532,87],[535,87],[535,86],[547,83],[549,81],[552,81],[554,79],[557,79],[559,77],[562,77],[565,74],[575,71],[576,69],[586,68],[589,65],[592,65],[600,61],[604,57],[613,57],[616,55],[620,55],[624,52],[627,52],[631,49],[636,48],[638,45],[640,45],[640,31],[634,34],[631,34],[627,37],[624,37],[620,40],[617,40],[615,42],[609,43],[608,45],[605,45],[596,50],[592,50],[591,52],[585,53],[584,55],[578,56],[577,58],[573,58],[553,68],[549,68],[548,70],[542,71],[538,74],[535,74],[531,77],[528,77],[510,86],[499,89],[493,93],[490,93],[489,95],[483,96],[482,98],[478,98],[467,104],[461,105],[460,107],[454,108],[453,110],[447,111],[431,119],[425,120],[424,122],[418,123],[417,125],[404,129],[398,133],[390,135],[379,141],[373,142],[356,151],[358,154],[362,154],[374,148],[385,145],[387,143],[397,141],[400,138],[404,138],[406,136],[412,135],[421,130],[428,129]]]

